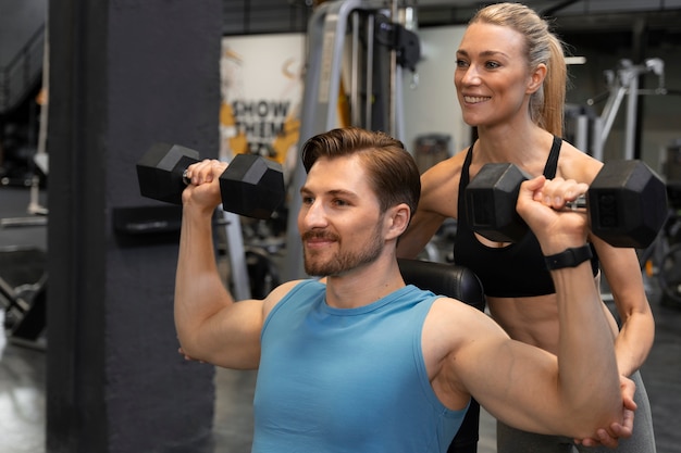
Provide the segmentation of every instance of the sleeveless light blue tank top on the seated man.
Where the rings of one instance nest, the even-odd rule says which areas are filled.
[[[466,410],[435,395],[421,330],[436,297],[413,286],[334,309],[305,280],[265,319],[253,453],[444,453]]]

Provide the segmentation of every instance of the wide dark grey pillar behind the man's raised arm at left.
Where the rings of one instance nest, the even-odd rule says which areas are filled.
[[[135,173],[152,142],[216,155],[221,11],[49,3],[49,453],[212,452],[213,368],[177,353],[176,235],[113,217],[160,205]]]

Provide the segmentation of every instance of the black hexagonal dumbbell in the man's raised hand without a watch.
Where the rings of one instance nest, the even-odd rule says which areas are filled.
[[[199,162],[198,151],[178,144],[154,143],[137,162],[143,197],[182,204],[189,184],[187,167]],[[237,154],[220,175],[220,194],[225,211],[267,219],[284,201],[284,176],[278,163],[256,154]]]

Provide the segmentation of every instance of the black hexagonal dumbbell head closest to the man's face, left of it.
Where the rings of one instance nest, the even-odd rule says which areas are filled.
[[[220,176],[222,207],[267,219],[284,201],[282,166],[256,154],[237,154]]]

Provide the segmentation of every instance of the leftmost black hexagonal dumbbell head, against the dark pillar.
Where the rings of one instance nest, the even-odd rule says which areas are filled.
[[[178,144],[156,143],[137,162],[137,179],[143,197],[182,204],[184,171],[198,162],[198,151]]]

